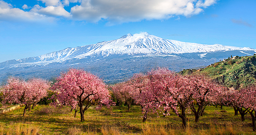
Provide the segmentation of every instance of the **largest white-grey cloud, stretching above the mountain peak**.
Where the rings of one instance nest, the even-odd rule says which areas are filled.
[[[98,22],[136,22],[143,19],[168,19],[174,16],[192,16],[201,13],[217,0],[82,0],[71,8],[74,19]],[[197,6],[195,6],[195,4]]]

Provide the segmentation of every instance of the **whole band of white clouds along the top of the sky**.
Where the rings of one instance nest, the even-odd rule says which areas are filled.
[[[174,16],[193,16],[203,12],[217,0],[37,0],[30,11],[14,8],[0,0],[0,20],[35,20],[65,18],[71,20],[109,23],[163,20]],[[70,3],[76,5],[65,10]],[[23,9],[27,9],[24,4]]]

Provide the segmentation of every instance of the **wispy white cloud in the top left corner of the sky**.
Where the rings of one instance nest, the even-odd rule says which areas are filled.
[[[53,22],[55,18],[47,17],[45,15],[26,12],[19,8],[13,8],[11,4],[0,0],[0,20],[8,21],[26,21],[26,22]]]

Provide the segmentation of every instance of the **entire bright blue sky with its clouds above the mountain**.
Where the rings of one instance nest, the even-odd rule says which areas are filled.
[[[128,33],[256,49],[255,0],[0,0],[0,62]]]

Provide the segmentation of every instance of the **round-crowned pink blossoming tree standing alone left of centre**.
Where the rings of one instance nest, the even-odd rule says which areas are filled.
[[[57,99],[61,104],[71,104],[80,108],[81,122],[84,112],[94,104],[111,104],[109,91],[103,81],[97,76],[82,69],[70,69],[58,77],[54,85],[59,91]]]

